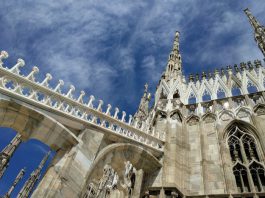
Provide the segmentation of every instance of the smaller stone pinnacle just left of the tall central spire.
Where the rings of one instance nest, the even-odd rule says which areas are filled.
[[[149,101],[151,99],[151,93],[148,93],[148,84],[145,84],[144,95],[141,98],[139,108],[134,115],[134,119],[138,121],[145,121],[149,114]]]

